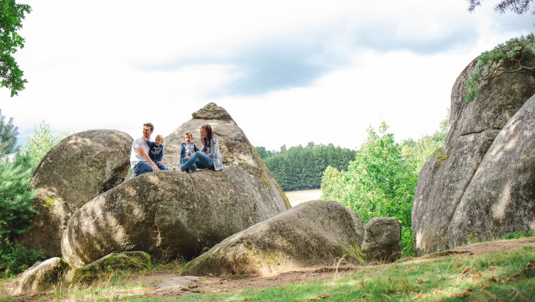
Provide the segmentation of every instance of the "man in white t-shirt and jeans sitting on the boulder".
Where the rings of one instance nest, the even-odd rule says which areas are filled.
[[[152,171],[160,171],[149,157],[149,145],[147,145],[147,141],[150,140],[152,131],[154,131],[154,126],[151,123],[143,124],[143,137],[141,139],[134,139],[132,143],[130,165],[132,166],[132,170],[134,170],[134,176]]]

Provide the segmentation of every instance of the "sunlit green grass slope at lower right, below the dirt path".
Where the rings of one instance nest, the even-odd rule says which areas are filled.
[[[535,301],[535,248],[359,270],[328,281],[180,301]],[[155,301],[155,300],[144,300]]]

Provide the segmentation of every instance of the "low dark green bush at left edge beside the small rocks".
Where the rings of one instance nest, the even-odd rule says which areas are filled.
[[[14,277],[36,262],[47,259],[40,251],[25,248],[19,244],[0,242],[0,279]]]

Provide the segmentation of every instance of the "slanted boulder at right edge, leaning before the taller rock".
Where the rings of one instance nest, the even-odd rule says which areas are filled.
[[[535,231],[535,95],[508,121],[464,191],[449,225],[453,246]]]

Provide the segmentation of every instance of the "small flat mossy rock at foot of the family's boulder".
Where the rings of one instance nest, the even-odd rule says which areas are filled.
[[[144,252],[111,253],[82,268],[74,268],[67,279],[71,282],[91,282],[118,270],[143,270],[151,266],[150,255]]]

